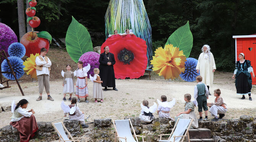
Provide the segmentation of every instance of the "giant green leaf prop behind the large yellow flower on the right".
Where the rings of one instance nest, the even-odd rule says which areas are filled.
[[[167,44],[172,44],[174,47],[179,47],[180,50],[183,50],[183,54],[186,55],[186,57],[190,56],[193,46],[193,35],[190,31],[190,25],[188,22],[172,33],[165,45]]]

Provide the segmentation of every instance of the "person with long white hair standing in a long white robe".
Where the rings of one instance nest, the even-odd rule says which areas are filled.
[[[210,51],[210,46],[204,45],[201,50],[202,53],[199,55],[196,70],[197,73],[199,73],[200,70],[200,76],[203,77],[202,82],[207,85],[207,88],[209,90],[209,87],[211,87],[213,84],[213,73],[216,69],[216,66],[214,57],[212,55],[212,52]],[[211,94],[209,93],[209,95]]]

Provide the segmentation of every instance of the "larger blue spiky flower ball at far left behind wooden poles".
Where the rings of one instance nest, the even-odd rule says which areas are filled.
[[[10,60],[11,67],[13,68],[13,71],[16,74],[17,79],[21,78],[24,74],[23,68],[25,68],[25,66],[23,65],[23,60],[15,56],[8,57],[8,59]],[[10,66],[8,65],[6,59],[2,62],[2,71],[11,72]],[[3,76],[7,79],[15,80],[13,74],[11,73],[3,73]]]

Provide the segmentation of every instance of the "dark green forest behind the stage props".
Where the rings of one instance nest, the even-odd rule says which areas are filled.
[[[89,31],[93,47],[101,46],[105,41],[104,16],[109,1],[37,0],[36,16],[41,19],[41,24],[36,31],[47,31],[53,38],[63,38],[71,23],[71,16],[74,16]],[[235,39],[232,36],[256,33],[255,0],[143,0],[143,2],[152,27],[153,55],[157,47],[164,47],[169,36],[177,28],[189,21],[193,34],[190,57],[198,59],[202,46],[208,44],[214,55],[217,70],[233,71]],[[0,1],[0,22],[13,29],[18,41],[20,32],[18,7],[21,6],[25,11],[28,7],[26,0]],[[24,13],[24,21],[26,19]],[[29,30],[28,27],[24,32]]]

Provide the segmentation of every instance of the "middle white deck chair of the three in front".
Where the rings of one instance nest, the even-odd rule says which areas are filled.
[[[142,137],[142,141],[144,142],[144,136],[139,136],[135,134],[135,131],[133,129],[133,125],[131,124],[130,119],[115,120],[115,121],[112,119],[112,121],[115,127],[115,142],[117,138],[119,139],[119,142],[139,142],[137,137]],[[133,129],[133,135],[131,134],[130,125],[131,125],[131,128]]]

